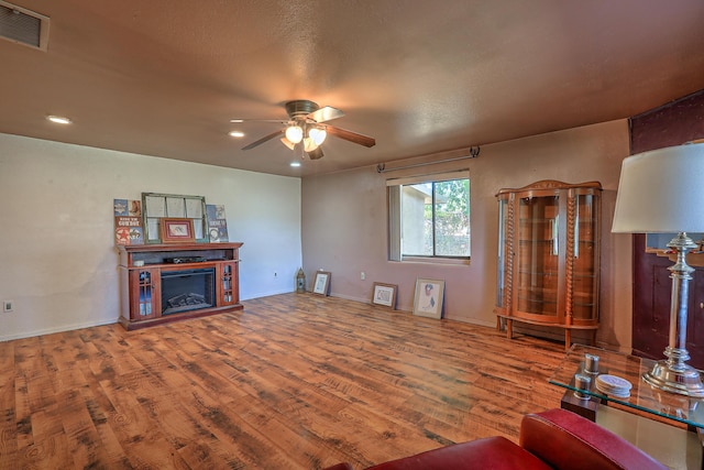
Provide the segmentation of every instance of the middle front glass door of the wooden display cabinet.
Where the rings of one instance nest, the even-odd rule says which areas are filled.
[[[518,201],[517,309],[558,315],[560,198],[524,197]]]

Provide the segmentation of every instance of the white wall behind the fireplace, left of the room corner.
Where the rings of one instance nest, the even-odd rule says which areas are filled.
[[[241,298],[294,291],[299,178],[0,134],[0,340],[117,321],[112,200],[143,192],[226,206]]]

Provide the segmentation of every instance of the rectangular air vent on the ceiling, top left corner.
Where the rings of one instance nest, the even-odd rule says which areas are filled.
[[[46,52],[48,17],[0,0],[0,39]]]

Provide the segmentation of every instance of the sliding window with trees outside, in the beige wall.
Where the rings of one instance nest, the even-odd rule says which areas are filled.
[[[468,172],[389,179],[389,259],[470,258]]]

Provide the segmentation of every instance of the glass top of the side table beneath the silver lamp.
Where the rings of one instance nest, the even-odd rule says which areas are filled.
[[[594,357],[598,359],[595,361]],[[597,362],[596,367],[594,362]],[[646,383],[641,378],[654,363],[637,356],[573,345],[549,382],[565,389],[563,408],[592,420],[596,420],[600,405],[615,406],[640,416],[685,425],[704,441],[704,398],[664,392]],[[597,369],[597,372],[590,372],[590,369]],[[598,380],[601,390],[597,387],[600,375],[604,375]],[[604,386],[608,383],[604,379],[610,379],[609,375],[616,376],[614,380],[618,384],[622,383],[618,379],[630,383],[628,396],[604,392],[609,390]]]

